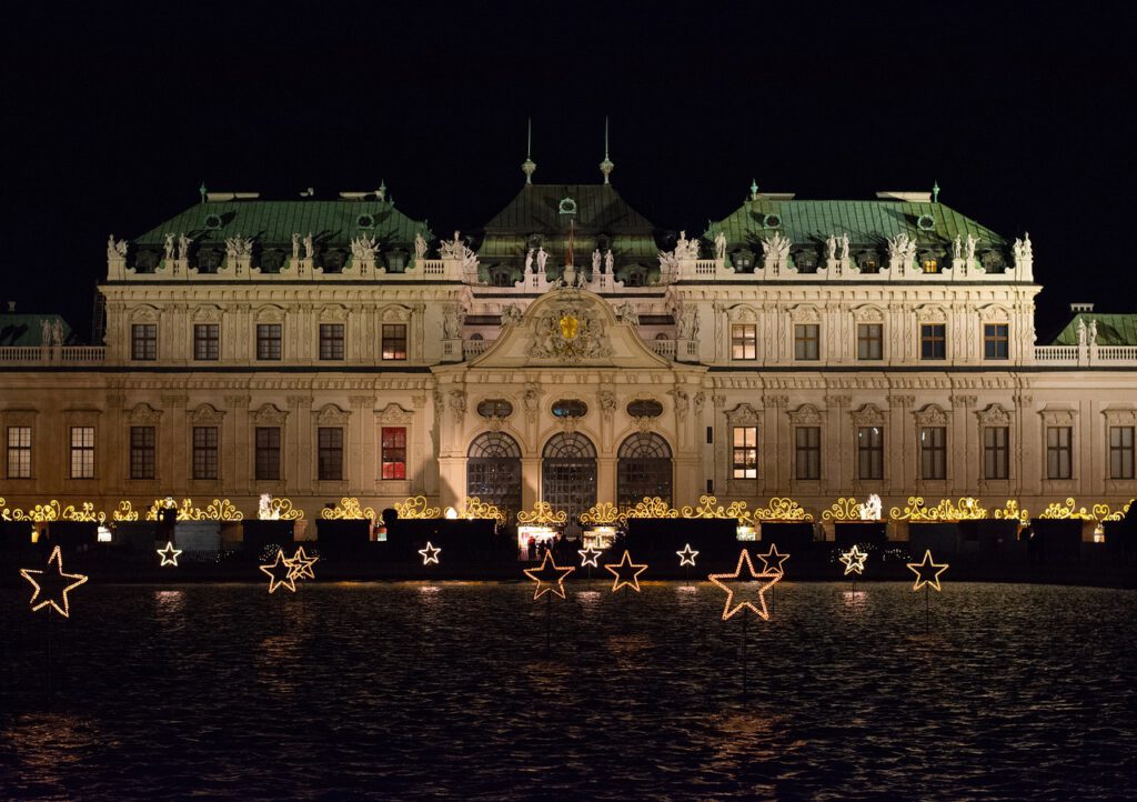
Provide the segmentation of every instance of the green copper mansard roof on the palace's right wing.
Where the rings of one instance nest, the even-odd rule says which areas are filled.
[[[777,218],[774,224],[773,218]],[[712,223],[704,234],[713,239],[717,231],[731,246],[758,242],[775,232],[795,245],[824,242],[829,235],[847,232],[855,245],[883,243],[886,238],[907,234],[919,247],[944,247],[957,235],[977,238],[980,248],[1004,248],[1007,241],[998,233],[940,202],[906,200],[797,200],[758,196],[747,200],[725,220]]]

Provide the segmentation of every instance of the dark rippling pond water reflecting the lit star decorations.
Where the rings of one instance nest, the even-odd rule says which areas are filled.
[[[1137,594],[945,582],[0,594],[0,797],[1115,799]]]

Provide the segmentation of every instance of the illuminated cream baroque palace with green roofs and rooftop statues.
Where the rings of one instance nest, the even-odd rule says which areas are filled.
[[[1137,316],[1036,345],[1029,235],[938,201],[761,192],[700,233],[609,183],[532,183],[435,238],[385,188],[201,191],[107,247],[105,345],[0,315],[3,493],[288,497],[316,516],[476,496],[814,513],[838,497],[1031,510],[1137,491]],[[20,325],[20,321],[23,324]]]

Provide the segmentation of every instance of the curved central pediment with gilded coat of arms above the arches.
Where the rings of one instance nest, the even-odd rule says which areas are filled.
[[[503,311],[501,333],[471,367],[670,367],[640,339],[636,325],[616,316],[587,290],[551,290],[524,314]]]

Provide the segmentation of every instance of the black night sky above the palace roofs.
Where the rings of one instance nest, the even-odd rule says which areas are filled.
[[[785,5],[785,3],[783,3]],[[1130,5],[40,3],[0,33],[3,291],[90,330],[106,239],[198,185],[334,197],[385,180],[434,231],[523,181],[613,183],[702,231],[750,179],[806,198],[943,188],[1030,231],[1040,334],[1137,309]],[[1041,3],[1038,3],[1041,5]],[[672,10],[669,10],[672,9]],[[840,10],[837,10],[840,9]],[[9,13],[10,14],[10,13]]]

